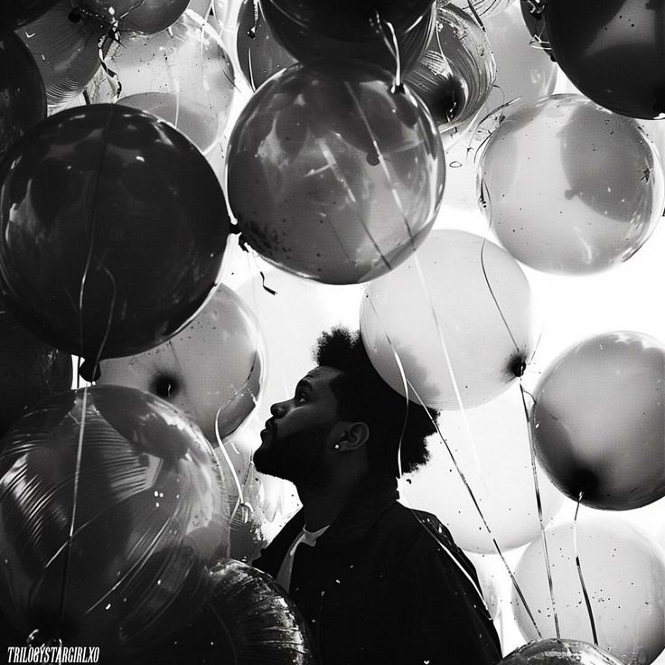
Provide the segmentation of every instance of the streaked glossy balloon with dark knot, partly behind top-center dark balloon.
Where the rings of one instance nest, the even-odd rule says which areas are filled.
[[[478,113],[495,74],[490,42],[480,25],[454,5],[437,0],[436,31],[405,80],[426,103],[440,131]]]

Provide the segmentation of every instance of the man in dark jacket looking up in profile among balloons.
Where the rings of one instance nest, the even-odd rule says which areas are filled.
[[[303,504],[254,562],[304,614],[323,665],[492,665],[499,639],[473,565],[432,515],[398,503],[435,411],[371,366],[359,334],[323,333],[318,366],[271,407],[254,462]],[[406,416],[406,421],[405,421]]]

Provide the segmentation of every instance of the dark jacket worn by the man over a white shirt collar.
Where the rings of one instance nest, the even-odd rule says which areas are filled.
[[[397,500],[393,478],[370,477],[314,548],[295,551],[290,595],[323,665],[498,662],[472,563],[436,517]],[[300,510],[254,565],[276,576],[303,526]]]

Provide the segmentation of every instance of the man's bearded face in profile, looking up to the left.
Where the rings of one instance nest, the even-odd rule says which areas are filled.
[[[331,367],[316,367],[295,386],[294,396],[270,407],[254,464],[296,486],[321,484],[326,477],[325,445],[340,422],[339,403],[331,381],[342,374]]]

